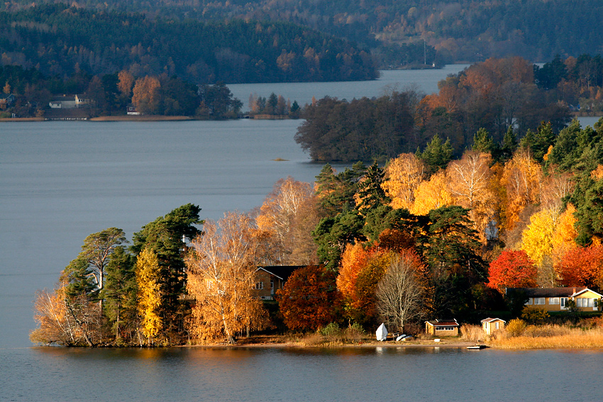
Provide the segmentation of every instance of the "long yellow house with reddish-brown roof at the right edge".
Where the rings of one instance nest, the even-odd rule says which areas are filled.
[[[602,294],[587,287],[567,288],[507,288],[507,296],[524,296],[526,306],[546,311],[567,311],[568,301],[575,301],[578,311],[598,311]]]

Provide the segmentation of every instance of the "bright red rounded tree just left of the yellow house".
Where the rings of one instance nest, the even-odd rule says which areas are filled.
[[[536,286],[538,270],[524,250],[504,250],[490,263],[487,286],[499,291],[504,288],[529,288]]]

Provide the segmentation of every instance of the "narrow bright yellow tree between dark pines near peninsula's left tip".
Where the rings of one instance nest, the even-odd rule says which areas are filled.
[[[162,328],[162,319],[158,314],[161,304],[159,259],[150,248],[145,248],[138,255],[135,274],[138,284],[138,314],[142,318],[141,330],[151,345]]]

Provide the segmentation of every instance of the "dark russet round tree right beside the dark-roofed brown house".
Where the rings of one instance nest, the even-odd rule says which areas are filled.
[[[316,330],[332,323],[340,305],[336,274],[322,265],[296,269],[277,290],[284,324],[291,330]]]

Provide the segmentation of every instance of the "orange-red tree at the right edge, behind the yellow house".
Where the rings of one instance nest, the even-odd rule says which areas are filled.
[[[601,289],[603,285],[603,245],[576,247],[565,253],[557,267],[561,284]]]

